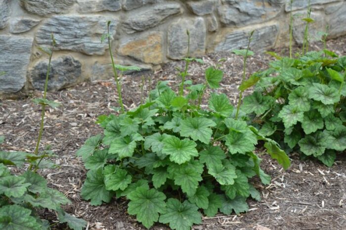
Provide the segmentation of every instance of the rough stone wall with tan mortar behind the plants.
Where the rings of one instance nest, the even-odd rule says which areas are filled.
[[[244,48],[256,29],[252,49],[288,44],[289,0],[0,0],[0,94],[43,90],[50,34],[56,39],[49,90],[112,77],[108,44],[101,43],[111,21],[116,62],[143,70],[186,55]],[[303,41],[308,0],[294,0],[293,35]],[[346,0],[311,0],[315,37],[329,25],[330,37],[346,33]]]

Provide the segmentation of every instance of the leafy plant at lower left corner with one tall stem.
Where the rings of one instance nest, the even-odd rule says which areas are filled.
[[[44,108],[59,105],[46,99],[47,83],[50,61],[55,45],[52,35],[51,49],[42,49],[49,54],[47,75],[44,86],[43,98],[34,102],[41,104],[42,117],[39,137],[34,153],[0,151],[0,229],[1,230],[49,230],[52,225],[47,220],[42,220],[38,214],[39,209],[50,209],[57,213],[60,223],[67,223],[71,229],[82,230],[86,226],[84,220],[78,219],[61,208],[70,201],[57,190],[49,188],[47,181],[37,173],[40,168],[51,168],[54,164],[46,160],[54,156],[50,147],[39,151],[43,135]],[[0,144],[4,142],[0,136]],[[24,166],[29,164],[27,170]],[[13,174],[13,167],[18,167],[21,174]],[[18,171],[18,170],[16,170]]]

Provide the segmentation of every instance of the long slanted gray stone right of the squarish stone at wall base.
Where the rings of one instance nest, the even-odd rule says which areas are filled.
[[[229,34],[219,35],[221,42],[216,44],[215,51],[232,51],[233,49],[248,46],[249,32],[251,30],[233,31]],[[273,47],[279,32],[278,25],[264,26],[255,30],[250,49],[263,51]]]

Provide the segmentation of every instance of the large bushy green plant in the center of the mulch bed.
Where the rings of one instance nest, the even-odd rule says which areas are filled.
[[[128,213],[146,228],[160,222],[189,230],[201,223],[201,212],[210,217],[218,210],[246,212],[249,196],[260,199],[249,179],[257,175],[270,183],[254,152],[258,142],[285,169],[290,161],[275,141],[234,119],[225,94],[212,93],[208,109],[200,108],[201,94],[206,87],[219,88],[222,77],[209,67],[205,83],[189,85],[187,95],[181,84],[176,93],[159,82],[146,103],[118,116],[100,116],[103,135],[88,138],[77,152],[89,170],[82,197],[91,205],[110,202],[114,195],[127,198]]]

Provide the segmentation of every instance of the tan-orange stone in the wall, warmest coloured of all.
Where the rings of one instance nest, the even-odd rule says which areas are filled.
[[[123,39],[119,54],[144,63],[160,64],[163,62],[163,33],[153,32],[138,39]]]

